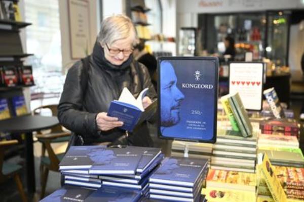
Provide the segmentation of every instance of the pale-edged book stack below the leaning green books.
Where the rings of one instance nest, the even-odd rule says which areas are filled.
[[[235,131],[218,131],[213,144],[211,169],[254,173],[256,133],[252,137],[234,135]]]

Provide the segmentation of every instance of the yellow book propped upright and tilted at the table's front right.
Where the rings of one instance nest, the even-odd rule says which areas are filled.
[[[259,178],[264,179],[272,194],[275,202],[286,202],[287,197],[278,179],[275,169],[270,163],[270,160],[265,153],[259,153],[257,158],[257,171],[259,172]]]

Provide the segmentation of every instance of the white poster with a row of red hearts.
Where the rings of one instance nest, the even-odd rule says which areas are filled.
[[[263,63],[230,63],[229,93],[239,92],[247,110],[262,109]]]

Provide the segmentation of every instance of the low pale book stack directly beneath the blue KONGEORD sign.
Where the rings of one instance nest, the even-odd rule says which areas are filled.
[[[171,157],[183,157],[185,144],[188,144],[188,156],[194,159],[208,159],[210,166],[212,144],[200,142],[185,142],[174,140],[172,142]]]

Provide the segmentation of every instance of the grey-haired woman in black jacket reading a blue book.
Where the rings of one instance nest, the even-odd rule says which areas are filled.
[[[124,87],[137,97],[149,88],[142,99],[143,107],[157,94],[146,67],[132,57],[137,43],[135,27],[124,15],[106,18],[101,23],[93,53],[76,62],[68,71],[58,105],[60,123],[73,132],[72,145],[104,142],[153,146],[146,122],[126,139],[120,129],[124,123],[107,116],[112,100],[118,99]]]

